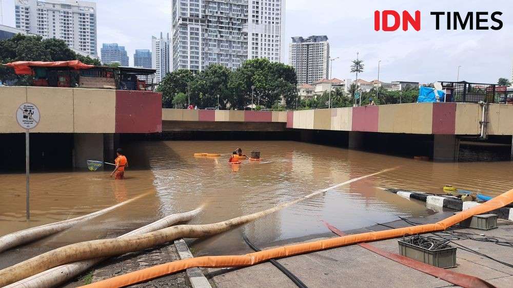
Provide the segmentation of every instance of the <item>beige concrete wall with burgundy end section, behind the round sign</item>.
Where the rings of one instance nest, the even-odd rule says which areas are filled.
[[[147,133],[162,131],[162,96],[144,91],[0,87],[0,133],[23,132],[17,107],[31,102],[41,121],[31,132]]]

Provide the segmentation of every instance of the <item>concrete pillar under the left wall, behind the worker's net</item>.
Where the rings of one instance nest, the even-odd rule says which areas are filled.
[[[87,168],[87,160],[104,161],[103,134],[74,134],[73,138],[73,167]]]

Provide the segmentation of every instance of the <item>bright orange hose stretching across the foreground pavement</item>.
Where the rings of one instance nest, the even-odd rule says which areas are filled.
[[[203,256],[190,259],[173,261],[161,265],[156,265],[147,269],[135,271],[125,275],[113,277],[107,280],[99,281],[86,285],[88,288],[106,288],[106,287],[124,287],[135,283],[145,282],[150,279],[158,278],[164,275],[173,274],[192,267],[204,268],[227,268],[244,267],[258,264],[273,258],[283,258],[294,255],[300,255],[315,251],[321,251],[331,248],[348,246],[362,242],[371,242],[398,238],[404,235],[414,235],[421,233],[430,233],[443,231],[448,227],[460,223],[461,221],[482,213],[489,212],[513,202],[513,189],[503,193],[494,199],[470,208],[466,211],[455,214],[435,224],[425,224],[414,227],[404,227],[385,231],[367,232],[361,234],[348,235],[343,237],[329,238],[313,242],[305,242],[295,245],[283,246],[261,252],[249,253],[246,255],[231,256]]]

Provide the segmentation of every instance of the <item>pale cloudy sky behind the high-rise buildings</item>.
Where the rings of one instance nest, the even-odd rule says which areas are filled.
[[[3,2],[4,25],[14,26],[14,0]],[[133,63],[135,49],[150,49],[151,36],[170,32],[171,0],[96,0],[98,53],[102,43],[125,46]],[[420,31],[374,31],[375,10],[421,11]],[[432,11],[502,12],[501,30],[435,29]],[[445,17],[443,18],[445,20]],[[489,26],[494,25],[489,19]],[[444,23],[444,21],[442,21]],[[333,61],[332,77],[351,78],[351,60],[359,53],[365,69],[358,78],[382,81],[460,80],[495,83],[511,79],[513,65],[513,2],[504,0],[287,0],[283,62],[288,63],[292,36],[326,35]]]

